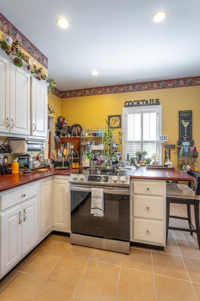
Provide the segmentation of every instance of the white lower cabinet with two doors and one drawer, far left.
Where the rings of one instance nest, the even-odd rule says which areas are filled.
[[[38,243],[37,194],[37,183],[0,194],[0,276]]]

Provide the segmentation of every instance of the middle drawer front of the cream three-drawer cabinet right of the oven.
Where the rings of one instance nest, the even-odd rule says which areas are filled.
[[[134,196],[133,215],[143,218],[163,219],[163,198]]]

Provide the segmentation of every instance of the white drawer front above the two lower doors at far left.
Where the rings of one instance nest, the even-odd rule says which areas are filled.
[[[20,188],[20,189],[14,189],[14,191],[10,193],[6,193],[0,197],[0,210],[7,209],[15,204],[22,203],[26,201],[29,198],[32,198],[33,196],[37,195],[38,189],[37,184],[33,185],[26,185],[26,187]]]

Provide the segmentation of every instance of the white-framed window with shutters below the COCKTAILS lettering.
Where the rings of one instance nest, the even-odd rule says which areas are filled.
[[[123,108],[123,159],[146,150],[147,157],[158,153],[162,160],[162,105]],[[162,162],[162,161],[161,161]]]

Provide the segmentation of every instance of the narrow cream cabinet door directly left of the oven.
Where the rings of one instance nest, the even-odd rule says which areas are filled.
[[[70,232],[69,176],[54,177],[54,230]]]

